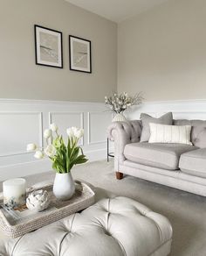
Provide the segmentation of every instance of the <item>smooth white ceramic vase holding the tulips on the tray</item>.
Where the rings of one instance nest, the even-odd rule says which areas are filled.
[[[69,200],[75,191],[75,184],[71,173],[56,174],[53,183],[53,194],[58,200]]]

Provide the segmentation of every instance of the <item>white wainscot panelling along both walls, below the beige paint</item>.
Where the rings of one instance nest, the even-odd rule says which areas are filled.
[[[106,127],[112,114],[104,103],[72,103],[0,99],[0,180],[51,170],[49,160],[35,160],[26,153],[26,144],[42,144],[42,133],[51,122],[59,132],[68,126],[85,129],[83,145],[89,160],[106,160]],[[172,111],[174,118],[206,119],[206,100],[148,102],[126,113],[138,119],[141,112],[154,117]]]

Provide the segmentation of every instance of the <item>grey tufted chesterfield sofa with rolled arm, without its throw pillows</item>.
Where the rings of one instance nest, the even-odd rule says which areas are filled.
[[[114,140],[117,179],[130,174],[168,187],[206,196],[206,121],[173,120],[192,125],[193,146],[140,142],[141,120],[114,122],[108,137]]]

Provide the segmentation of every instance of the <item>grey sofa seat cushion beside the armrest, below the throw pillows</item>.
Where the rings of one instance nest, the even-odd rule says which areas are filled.
[[[127,160],[168,170],[179,169],[179,159],[182,153],[196,149],[177,143],[131,143],[125,146],[124,155]]]

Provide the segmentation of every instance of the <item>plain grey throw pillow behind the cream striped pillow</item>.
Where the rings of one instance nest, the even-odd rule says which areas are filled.
[[[148,114],[141,113],[142,131],[141,142],[148,141],[150,137],[149,123],[154,124],[173,124],[172,112],[161,116],[160,118],[151,117]]]

